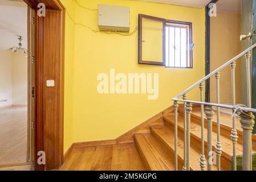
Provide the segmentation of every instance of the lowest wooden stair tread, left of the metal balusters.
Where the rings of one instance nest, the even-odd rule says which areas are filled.
[[[135,141],[146,167],[152,171],[173,171],[174,156],[151,134],[135,134]]]

